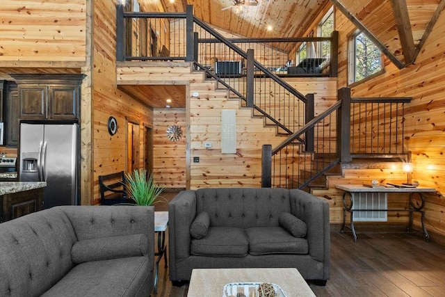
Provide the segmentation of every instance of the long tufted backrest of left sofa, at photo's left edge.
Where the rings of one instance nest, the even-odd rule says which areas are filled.
[[[74,229],[61,209],[0,224],[0,296],[40,296],[74,266]]]

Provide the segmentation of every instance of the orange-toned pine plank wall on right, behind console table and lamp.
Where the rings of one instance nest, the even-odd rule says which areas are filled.
[[[419,12],[421,13],[421,11]],[[415,16],[414,16],[415,17]],[[348,82],[348,35],[355,27],[338,10],[335,13],[335,29],[339,31],[339,88]],[[385,73],[352,88],[353,97],[413,97],[405,105],[405,145],[412,152],[413,179],[422,186],[434,187],[435,194],[426,195],[426,227],[433,240],[445,235],[445,14],[440,15],[421,54],[414,65],[398,70],[385,61]],[[331,222],[341,220],[341,191],[334,188],[338,183],[360,184],[376,178],[381,181],[404,182],[406,175],[389,165],[369,168],[361,172],[346,170],[341,181],[331,178],[328,191],[315,191],[318,196],[330,198]],[[407,207],[403,202],[390,199],[390,207]],[[392,201],[391,201],[392,200]],[[406,223],[405,215],[390,214],[389,222]],[[419,227],[419,217],[414,216]]]

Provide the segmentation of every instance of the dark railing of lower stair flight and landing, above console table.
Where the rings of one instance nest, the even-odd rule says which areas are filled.
[[[325,186],[322,175],[353,158],[408,159],[404,106],[412,98],[351,98],[350,88],[341,88],[338,98],[274,149],[264,145],[263,186]]]

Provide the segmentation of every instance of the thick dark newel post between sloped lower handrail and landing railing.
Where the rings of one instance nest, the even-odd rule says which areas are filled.
[[[350,162],[350,88],[338,91],[341,107],[337,111],[337,154],[341,162]]]

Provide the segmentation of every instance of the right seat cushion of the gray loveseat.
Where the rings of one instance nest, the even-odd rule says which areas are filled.
[[[292,236],[282,227],[252,227],[245,230],[250,255],[307,254],[307,240]]]

